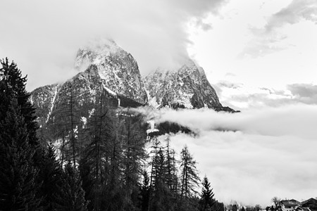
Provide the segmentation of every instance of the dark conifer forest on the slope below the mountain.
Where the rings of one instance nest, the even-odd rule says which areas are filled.
[[[26,82],[1,60],[0,210],[224,210],[187,146],[148,136],[107,90],[82,101],[71,82],[56,87],[63,98],[47,118]]]

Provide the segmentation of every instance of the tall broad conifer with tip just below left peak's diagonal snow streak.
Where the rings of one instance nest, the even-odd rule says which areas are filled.
[[[111,168],[111,156],[114,154],[116,157],[117,152],[111,153],[113,147],[111,143],[116,137],[113,136],[113,121],[109,117],[109,110],[104,106],[104,99],[101,94],[99,99],[99,105],[90,120],[87,122],[87,129],[85,130],[88,146],[85,148],[82,159],[80,160],[80,170],[82,171],[82,176],[85,178],[84,184],[91,184],[91,186],[86,186],[87,196],[90,198],[91,206],[94,210],[101,210],[101,204],[106,204],[106,199],[110,192],[109,186],[115,184],[114,179],[118,177],[113,176],[109,179],[109,174],[112,175],[114,171]],[[116,142],[116,140],[114,141]],[[118,165],[116,166],[118,167]],[[86,170],[89,169],[89,172]],[[110,180],[110,181],[109,181]],[[105,187],[107,185],[107,187]],[[105,189],[108,188],[108,193],[103,194]],[[102,196],[102,198],[101,198]],[[90,207],[90,206],[89,206]]]

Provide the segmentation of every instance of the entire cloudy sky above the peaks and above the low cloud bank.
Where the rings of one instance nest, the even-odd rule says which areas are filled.
[[[316,84],[314,0],[1,2],[0,56],[29,75],[27,88],[74,75],[77,49],[113,38],[142,75],[191,56],[219,81],[284,89]]]

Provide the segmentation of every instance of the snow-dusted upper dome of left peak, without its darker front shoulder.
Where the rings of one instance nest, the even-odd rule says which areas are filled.
[[[114,41],[103,40],[77,52],[75,68],[94,65],[104,86],[116,94],[147,103],[137,61]]]

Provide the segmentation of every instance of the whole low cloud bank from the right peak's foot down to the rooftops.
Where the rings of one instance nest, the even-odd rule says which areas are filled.
[[[197,132],[172,135],[171,143],[178,153],[189,147],[218,200],[266,206],[273,196],[316,197],[317,106],[298,103],[235,114],[206,109],[139,112],[157,123],[177,122]]]

